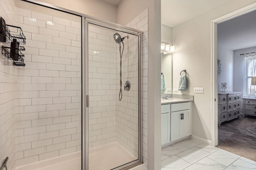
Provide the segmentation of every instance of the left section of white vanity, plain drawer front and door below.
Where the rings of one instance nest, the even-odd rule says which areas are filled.
[[[170,104],[161,105],[161,144],[170,142]]]

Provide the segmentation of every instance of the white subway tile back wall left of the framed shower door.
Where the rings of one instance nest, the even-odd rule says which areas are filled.
[[[81,23],[54,12],[17,8],[27,40],[26,67],[16,69],[16,166],[81,150]]]

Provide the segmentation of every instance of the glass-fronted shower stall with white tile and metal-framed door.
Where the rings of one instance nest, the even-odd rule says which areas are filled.
[[[16,16],[16,170],[142,164],[143,32],[26,0]]]

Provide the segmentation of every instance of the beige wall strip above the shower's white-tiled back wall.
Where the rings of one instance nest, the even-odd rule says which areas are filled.
[[[17,4],[20,3],[17,0]],[[66,8],[96,17],[100,20],[117,22],[117,7],[99,0],[38,0],[38,2],[46,2],[55,6]]]

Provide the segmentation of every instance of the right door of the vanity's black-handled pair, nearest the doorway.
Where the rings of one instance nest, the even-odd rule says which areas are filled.
[[[180,138],[190,135],[189,134],[189,111],[183,111],[183,119],[180,120]]]

